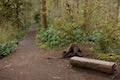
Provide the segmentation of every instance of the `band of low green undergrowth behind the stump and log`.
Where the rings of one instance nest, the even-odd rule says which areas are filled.
[[[39,29],[36,36],[38,44],[42,48],[59,49],[69,46],[71,43],[92,43],[93,55],[98,59],[115,61],[120,60],[120,43],[114,33],[107,30],[95,29],[85,34],[81,27],[72,28],[69,31],[49,26],[47,29]]]

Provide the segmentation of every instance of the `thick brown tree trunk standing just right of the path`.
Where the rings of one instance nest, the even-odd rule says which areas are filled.
[[[47,28],[46,0],[41,0],[41,26]]]

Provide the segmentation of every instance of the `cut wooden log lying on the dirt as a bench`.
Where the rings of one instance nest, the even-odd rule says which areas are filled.
[[[76,67],[88,68],[101,71],[108,74],[113,74],[116,71],[116,63],[95,59],[87,59],[82,57],[70,58],[70,63]]]

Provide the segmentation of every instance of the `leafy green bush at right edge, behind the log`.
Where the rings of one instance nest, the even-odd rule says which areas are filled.
[[[115,33],[116,31],[114,32],[112,29],[97,28],[91,33],[90,39],[94,42],[95,49],[100,52],[119,53],[120,40],[115,36]]]

